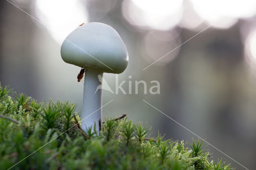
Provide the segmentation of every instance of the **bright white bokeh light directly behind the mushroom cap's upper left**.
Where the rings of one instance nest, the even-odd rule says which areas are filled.
[[[79,0],[36,0],[35,7],[36,16],[60,44],[82,22],[88,22],[84,4]]]

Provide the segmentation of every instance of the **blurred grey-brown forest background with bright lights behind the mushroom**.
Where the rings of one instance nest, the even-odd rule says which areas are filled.
[[[197,139],[144,99],[246,168],[254,169],[256,1],[10,2],[0,1],[3,86],[10,85],[17,93],[26,93],[37,101],[69,100],[81,112],[83,83],[76,79],[80,68],[62,61],[60,45],[81,23],[102,22],[116,29],[129,53],[128,67],[118,81],[126,81],[122,86],[125,91],[128,81],[132,82],[132,94],[103,90],[103,104],[114,100],[103,108],[104,117],[126,113],[129,119],[151,125],[151,136],[159,130],[166,139]],[[186,43],[178,47],[183,42]],[[115,89],[115,75],[104,73],[104,78]],[[147,94],[142,85],[135,94],[135,81],[140,80],[146,81]],[[153,80],[160,82],[160,94],[149,93],[155,85],[150,83]],[[208,149],[214,160],[222,158],[233,167],[244,169],[212,146]]]

